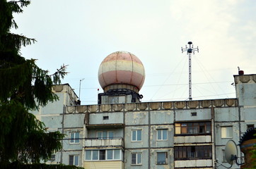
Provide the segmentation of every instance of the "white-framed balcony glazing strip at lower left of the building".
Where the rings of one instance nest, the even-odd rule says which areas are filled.
[[[121,160],[120,149],[86,150],[86,161]]]

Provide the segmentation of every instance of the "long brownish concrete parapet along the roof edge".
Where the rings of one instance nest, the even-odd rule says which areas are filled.
[[[238,106],[237,99],[214,99],[199,101],[162,101],[131,104],[96,104],[85,106],[66,106],[66,113],[104,113],[120,111],[157,111],[190,108],[221,108]]]

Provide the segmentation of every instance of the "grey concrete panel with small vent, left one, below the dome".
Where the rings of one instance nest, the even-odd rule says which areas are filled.
[[[117,124],[124,123],[124,115],[122,112],[118,113],[90,113],[90,125],[95,124]],[[103,120],[103,117],[107,117],[107,120]]]

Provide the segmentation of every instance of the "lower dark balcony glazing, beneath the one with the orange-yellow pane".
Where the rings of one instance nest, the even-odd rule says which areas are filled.
[[[175,146],[175,160],[210,159],[211,146]]]

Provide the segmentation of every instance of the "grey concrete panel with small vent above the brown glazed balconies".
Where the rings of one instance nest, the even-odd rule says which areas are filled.
[[[197,115],[192,116],[191,113],[197,113]],[[210,120],[211,119],[211,109],[201,108],[201,109],[188,109],[188,110],[176,110],[175,111],[176,121],[185,120]]]

